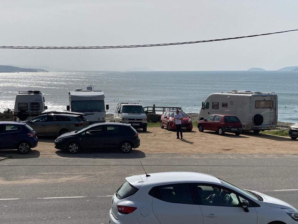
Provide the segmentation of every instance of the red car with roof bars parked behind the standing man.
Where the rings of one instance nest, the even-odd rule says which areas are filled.
[[[179,111],[181,115],[183,116],[183,120],[181,121],[182,130],[191,131],[193,130],[193,122],[191,121],[190,117],[187,116],[186,113],[183,111]],[[174,115],[176,114],[176,110],[167,110],[164,112],[160,119],[160,127],[164,128],[167,127],[168,131],[176,129],[176,125],[174,124]]]

